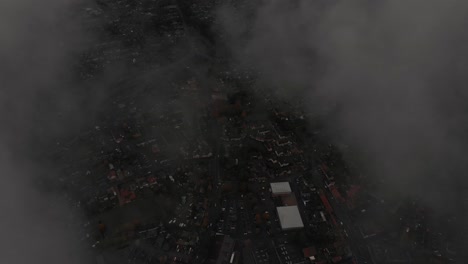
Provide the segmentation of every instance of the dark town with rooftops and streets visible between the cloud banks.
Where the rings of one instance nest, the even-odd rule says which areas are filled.
[[[94,264],[455,263],[457,217],[386,190],[334,137],[333,103],[236,61],[222,1],[92,2],[73,78],[102,100],[47,142],[60,176],[39,185],[73,208],[69,239]]]

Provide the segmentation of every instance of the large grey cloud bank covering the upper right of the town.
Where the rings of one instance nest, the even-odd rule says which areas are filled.
[[[466,1],[260,1],[219,9],[231,51],[398,193],[459,209],[466,179]],[[245,22],[248,21],[248,22]],[[251,24],[250,24],[251,23]],[[328,111],[327,110],[327,111]]]

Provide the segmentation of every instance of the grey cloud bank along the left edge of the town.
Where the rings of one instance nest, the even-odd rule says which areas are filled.
[[[73,131],[87,110],[69,71],[88,39],[70,11],[74,5],[0,2],[0,263],[89,263],[70,226],[80,212],[37,188],[52,170],[32,159],[48,151],[39,143]]]

